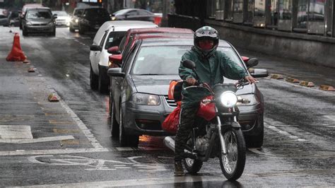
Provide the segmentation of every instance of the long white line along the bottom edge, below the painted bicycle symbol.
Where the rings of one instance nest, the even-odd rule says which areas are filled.
[[[114,180],[105,182],[81,182],[69,184],[38,184],[28,187],[125,187],[125,186],[140,186],[153,184],[175,184],[187,182],[223,182],[224,177],[208,177],[208,176],[184,176],[184,177],[158,177],[148,179],[133,179],[133,180]]]

